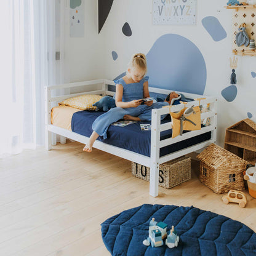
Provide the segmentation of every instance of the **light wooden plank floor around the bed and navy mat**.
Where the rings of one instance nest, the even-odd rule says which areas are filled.
[[[256,199],[247,206],[223,204],[222,195],[192,178],[149,196],[149,183],[132,177],[129,161],[103,151],[84,153],[82,145],[60,143],[0,159],[0,255],[110,255],[100,223],[141,204],[199,207],[239,220],[256,231]]]

